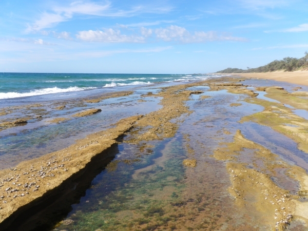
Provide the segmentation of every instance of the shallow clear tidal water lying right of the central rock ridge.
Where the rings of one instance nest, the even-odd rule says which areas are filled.
[[[111,166],[117,164],[117,169],[105,170],[95,178],[81,203],[72,206],[71,213],[56,229],[267,230],[267,224],[258,222],[262,219],[259,213],[234,204],[227,192],[230,182],[224,162],[211,155],[221,142],[232,142],[240,129],[247,139],[290,163],[308,169],[308,158],[292,140],[274,130],[250,122],[238,123],[241,117],[263,110],[241,101],[244,95],[226,90],[201,95],[211,98],[199,100],[200,95],[192,94],[187,105],[194,112],[184,118],[175,138],[147,143],[154,146],[150,155],[144,155],[135,145],[122,144],[117,159],[111,162]],[[235,102],[242,105],[229,106]],[[139,162],[119,162],[139,154]],[[182,160],[186,158],[196,159],[197,167],[183,167]],[[242,158],[245,163],[255,161],[250,150],[244,151]],[[262,167],[262,163],[256,164]],[[272,180],[295,194],[298,184],[283,169],[277,172]]]

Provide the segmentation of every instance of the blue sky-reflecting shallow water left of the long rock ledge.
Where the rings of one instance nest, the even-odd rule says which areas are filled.
[[[65,116],[67,110],[57,110],[55,113],[60,117],[71,120],[62,123],[46,122],[54,118],[50,117],[33,125],[28,123],[2,131],[4,137],[0,139],[0,169],[63,149],[73,144],[76,139],[108,128],[110,124],[126,118],[128,114],[146,114],[161,108],[158,105],[160,98],[147,97],[143,99],[146,102],[138,102],[139,99],[140,95],[130,95],[89,104],[84,109],[100,108],[102,112],[82,118],[68,117]],[[76,108],[72,108],[70,112],[74,110]]]

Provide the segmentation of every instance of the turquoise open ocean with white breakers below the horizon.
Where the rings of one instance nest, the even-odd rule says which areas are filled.
[[[0,73],[0,100],[154,83],[206,80],[215,74]]]

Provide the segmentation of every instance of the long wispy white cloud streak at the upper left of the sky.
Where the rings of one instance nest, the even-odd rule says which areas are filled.
[[[43,12],[38,20],[28,25],[26,32],[37,32],[45,28],[52,28],[61,22],[71,20],[74,15],[129,17],[138,13],[166,13],[171,7],[135,6],[130,10],[117,10],[111,7],[110,2],[98,4],[92,2],[73,2],[68,6],[54,6],[48,12]]]

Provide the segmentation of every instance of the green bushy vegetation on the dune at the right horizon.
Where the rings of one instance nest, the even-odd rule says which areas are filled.
[[[239,69],[228,67],[216,73],[254,73],[254,72],[272,72],[272,71],[295,71],[308,69],[308,52],[305,56],[297,59],[295,57],[284,57],[282,60],[274,60],[264,66],[257,68]]]

